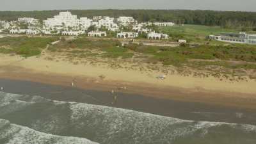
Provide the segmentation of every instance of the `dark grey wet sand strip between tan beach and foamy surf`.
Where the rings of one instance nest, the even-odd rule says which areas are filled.
[[[10,79],[0,79],[0,86],[3,86],[4,92],[8,93],[40,95],[52,100],[83,102],[115,108],[132,109],[185,120],[256,124],[255,111],[244,108],[216,106],[202,102],[157,99],[145,95],[123,92],[115,93],[118,98],[116,103],[112,104],[112,93],[100,90],[84,90],[71,86],[58,86]]]

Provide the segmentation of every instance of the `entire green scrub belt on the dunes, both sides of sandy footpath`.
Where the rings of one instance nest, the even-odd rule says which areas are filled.
[[[255,45],[243,44],[184,44],[178,47],[160,47],[143,44],[122,45],[116,39],[79,37],[73,40],[58,37],[5,37],[0,38],[1,53],[15,53],[22,56],[36,56],[47,47],[47,51],[65,53],[77,58],[133,58],[146,63],[162,63],[175,67],[205,67],[218,65],[227,68],[256,69]],[[191,63],[191,60],[193,63]],[[231,62],[234,62],[230,65]]]

